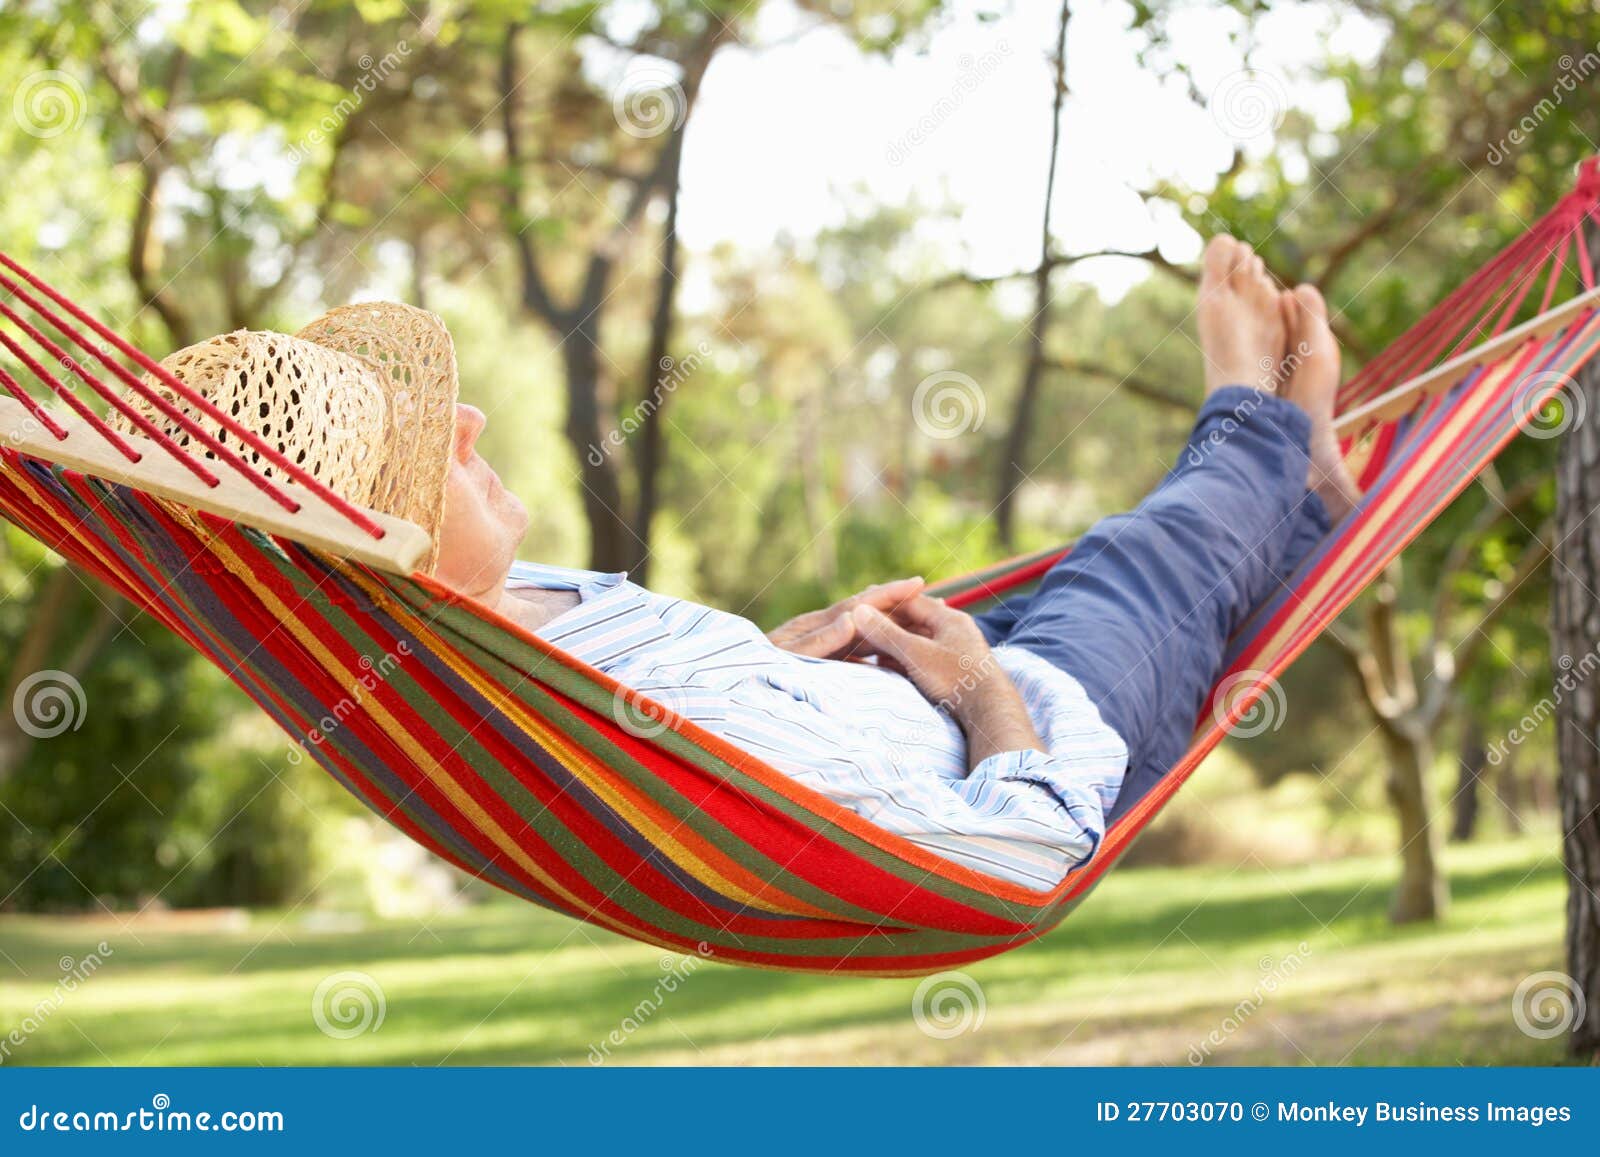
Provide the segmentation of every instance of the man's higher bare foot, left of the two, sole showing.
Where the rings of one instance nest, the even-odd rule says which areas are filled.
[[[1286,334],[1278,296],[1248,245],[1222,234],[1205,246],[1197,310],[1206,395],[1222,386],[1274,392],[1282,384]]]

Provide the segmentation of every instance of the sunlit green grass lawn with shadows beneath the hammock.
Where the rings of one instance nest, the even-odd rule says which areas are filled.
[[[306,912],[0,917],[0,1042],[32,1026],[0,1063],[1560,1061],[1560,1040],[1512,1019],[1517,984],[1562,965],[1554,837],[1448,863],[1448,919],[1411,930],[1384,919],[1387,859],[1115,872],[1042,943],[968,970],[982,1023],[955,1035],[918,1027],[914,979],[685,963],[509,901],[349,927]],[[99,971],[53,997],[64,957],[99,941]],[[318,1029],[312,997],[346,970],[381,987],[384,1018],[341,1039]]]

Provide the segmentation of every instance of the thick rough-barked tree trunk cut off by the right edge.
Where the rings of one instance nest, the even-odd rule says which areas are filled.
[[[1578,378],[1579,421],[1562,445],[1557,466],[1557,534],[1550,583],[1550,651],[1557,661],[1555,696],[1560,802],[1566,858],[1566,970],[1584,997],[1573,1024],[1571,1050],[1600,1061],[1600,687],[1582,679],[1600,642],[1600,363]],[[1590,408],[1586,411],[1584,403]],[[1589,419],[1584,421],[1582,414]],[[1576,669],[1574,669],[1576,667]]]

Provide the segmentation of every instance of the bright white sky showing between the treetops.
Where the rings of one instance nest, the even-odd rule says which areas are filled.
[[[768,3],[752,40],[770,46],[726,48],[706,75],[683,160],[686,246],[760,250],[779,235],[803,238],[840,222],[854,190],[867,189],[886,203],[962,206],[954,227],[930,221],[928,240],[971,274],[1032,266],[1058,6],[989,0],[957,8],[923,50],[882,59],[816,27],[787,0]],[[998,16],[981,21],[979,10]],[[626,32],[637,11],[616,5],[613,27]],[[1290,106],[1320,128],[1338,128],[1347,117],[1344,93],[1309,78],[1307,66],[1325,56],[1325,43],[1370,59],[1382,42],[1378,26],[1341,6],[1290,5],[1258,26],[1246,72],[1229,35],[1242,21],[1195,3],[1171,29],[1206,109],[1139,64],[1141,37],[1130,22],[1122,0],[1074,5],[1054,203],[1056,237],[1070,253],[1158,243],[1173,259],[1194,258],[1200,238],[1176,214],[1152,219],[1134,190],[1152,178],[1205,190],[1235,142],[1270,149]],[[626,88],[627,69],[640,67],[648,62],[613,61],[611,82]],[[1147,272],[1139,261],[1104,259],[1074,275],[1115,298]]]

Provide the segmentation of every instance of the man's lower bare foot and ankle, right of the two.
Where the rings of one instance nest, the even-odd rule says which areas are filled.
[[[1328,304],[1315,286],[1298,285],[1282,294],[1288,354],[1283,357],[1283,397],[1310,414],[1310,470],[1307,490],[1317,491],[1338,522],[1360,501],[1333,432],[1333,405],[1339,392],[1339,342],[1328,328]]]

